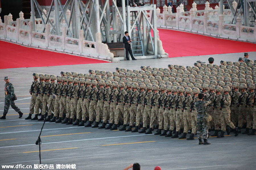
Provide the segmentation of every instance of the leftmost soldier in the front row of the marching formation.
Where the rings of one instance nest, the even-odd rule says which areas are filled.
[[[31,88],[29,90],[30,95],[32,95],[30,100],[30,106],[29,106],[29,115],[28,117],[25,118],[26,120],[31,119],[32,114],[34,114],[34,107],[36,104],[36,89],[39,84],[39,81],[38,81],[39,74],[33,73],[33,78],[34,78],[34,81],[32,82]]]

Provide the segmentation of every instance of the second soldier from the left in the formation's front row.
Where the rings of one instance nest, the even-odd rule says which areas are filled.
[[[43,88],[44,88],[44,78],[45,76],[43,74],[39,75],[40,78],[40,82],[38,84],[37,90],[36,90],[36,105],[35,105],[35,117],[32,118],[31,120],[38,120],[38,114],[39,114],[39,108],[41,106],[41,103],[43,102],[43,96],[42,96],[42,92],[43,92]],[[44,118],[44,116],[42,116],[42,118]]]

